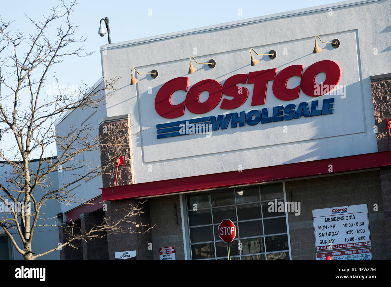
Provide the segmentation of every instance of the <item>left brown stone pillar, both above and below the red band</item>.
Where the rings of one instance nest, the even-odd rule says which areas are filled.
[[[115,162],[118,156],[124,156],[124,166],[119,166],[117,174],[117,186],[132,184],[132,151],[130,144],[130,117],[124,115],[120,117],[104,118],[103,123],[99,125],[99,135],[102,139],[103,147],[100,152],[100,159],[103,163]],[[113,144],[117,142],[117,144]],[[114,186],[115,174],[117,168],[115,165],[102,174],[103,187]],[[129,205],[135,205],[138,200],[118,200],[106,201],[107,211],[106,218],[109,221],[121,219]],[[133,216],[127,220],[135,223],[141,223],[147,226],[136,227],[131,222],[121,222],[120,227],[126,231],[135,233],[115,232],[107,235],[108,257],[109,260],[115,259],[115,252],[136,250],[136,260],[152,260],[152,237],[151,231],[145,232],[151,226],[149,216],[149,202],[142,205],[142,214]]]

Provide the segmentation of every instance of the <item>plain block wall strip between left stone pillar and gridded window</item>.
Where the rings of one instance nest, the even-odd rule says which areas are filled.
[[[174,215],[174,203],[178,225]],[[149,209],[151,225],[155,225],[152,228],[153,259],[159,260],[159,248],[174,246],[175,259],[185,260],[179,195],[150,198]]]

